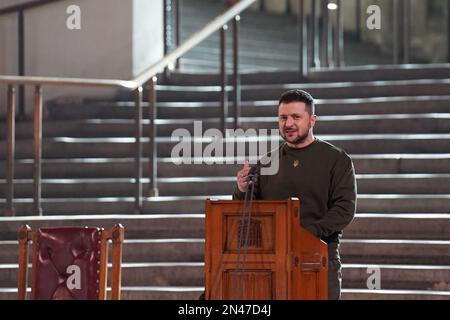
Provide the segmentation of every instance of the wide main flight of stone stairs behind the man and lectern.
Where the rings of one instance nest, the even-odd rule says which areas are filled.
[[[316,134],[343,147],[354,160],[359,195],[357,216],[341,244],[344,299],[450,299],[446,74],[448,69],[441,66],[385,67],[316,71],[308,83],[298,83],[295,73],[289,72],[242,78],[242,128],[275,128],[279,94],[304,88],[317,99]],[[217,84],[216,75],[180,73],[158,86],[160,197],[145,198],[142,215],[131,214],[130,101],[46,106],[44,217],[28,216],[32,123],[17,123],[18,216],[0,218],[0,299],[15,297],[15,239],[21,224],[111,227],[116,222],[126,229],[124,299],[196,299],[203,291],[204,200],[229,198],[241,165],[174,165],[170,152],[175,143],[170,135],[176,128],[192,131],[194,120],[203,121],[203,130],[218,127]],[[144,139],[144,154],[147,142]],[[6,150],[3,125],[0,150]],[[146,165],[144,160],[145,177]],[[4,177],[2,152],[0,179]],[[4,188],[5,181],[0,180],[2,195]],[[147,189],[145,184],[144,192]],[[0,208],[3,205],[2,196]],[[367,289],[371,267],[380,268],[381,290]]]

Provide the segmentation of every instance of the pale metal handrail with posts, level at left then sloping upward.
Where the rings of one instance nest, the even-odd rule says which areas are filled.
[[[134,91],[135,99],[135,211],[140,212],[142,209],[142,104],[143,104],[143,86],[147,83],[149,87],[149,141],[150,141],[150,196],[157,196],[158,189],[156,184],[157,178],[157,162],[156,162],[156,75],[166,68],[171,63],[176,62],[178,58],[184,55],[186,52],[194,48],[197,44],[205,40],[212,33],[221,30],[221,35],[224,37],[224,30],[226,24],[233,20],[234,23],[234,78],[237,79],[237,73],[239,72],[237,67],[237,31],[239,14],[246,10],[256,0],[241,0],[233,7],[228,9],[217,18],[213,19],[203,29],[189,37],[183,44],[177,47],[175,50],[165,55],[160,61],[147,68],[143,73],[138,75],[132,80],[117,80],[117,79],[89,79],[89,78],[63,78],[63,77],[39,77],[39,76],[0,76],[0,83],[6,83],[8,85],[8,151],[7,151],[7,192],[6,192],[6,215],[14,215],[14,148],[15,148],[15,135],[14,135],[14,123],[15,123],[15,87],[14,85],[34,85],[34,202],[33,211],[37,215],[42,215],[41,208],[41,158],[42,158],[42,86],[83,86],[83,87],[120,87],[129,91]],[[225,66],[225,54],[221,55],[222,72],[224,75],[222,79],[225,82],[222,83],[222,99],[226,97],[226,68]],[[240,81],[234,81],[235,91],[235,107],[238,110],[238,104],[240,99]],[[226,99],[222,102],[222,126],[225,129],[226,119]],[[237,111],[236,111],[237,112]],[[238,114],[235,114],[238,119]],[[235,121],[237,122],[237,121]]]

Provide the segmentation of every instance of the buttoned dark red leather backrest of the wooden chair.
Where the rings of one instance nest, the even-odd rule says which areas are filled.
[[[35,299],[98,299],[99,228],[39,229],[36,240]]]

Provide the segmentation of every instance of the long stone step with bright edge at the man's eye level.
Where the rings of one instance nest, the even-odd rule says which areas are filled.
[[[230,119],[230,127],[231,121]],[[218,129],[219,119],[179,119],[157,120],[157,136],[172,136],[177,129],[187,129],[194,134],[194,122],[202,124],[203,130]],[[143,135],[149,136],[149,121],[144,120]],[[278,129],[277,117],[242,117],[240,128]],[[387,133],[449,133],[450,113],[433,114],[392,114],[392,115],[354,115],[322,116],[314,127],[315,132],[323,134],[387,134]],[[134,120],[125,119],[86,119],[76,121],[49,121],[43,125],[43,137],[132,137]],[[17,140],[33,137],[32,122],[19,122],[16,126]],[[6,140],[6,128],[0,130],[0,139]]]

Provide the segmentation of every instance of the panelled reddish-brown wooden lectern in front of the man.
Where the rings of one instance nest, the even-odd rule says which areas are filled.
[[[205,299],[328,299],[327,245],[301,227],[298,199],[206,200]]]

